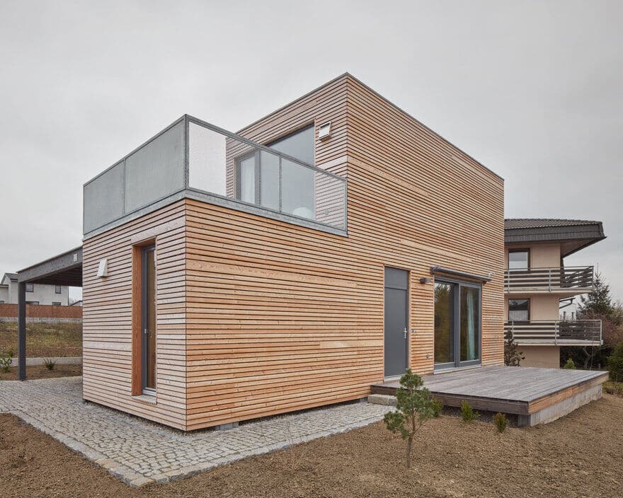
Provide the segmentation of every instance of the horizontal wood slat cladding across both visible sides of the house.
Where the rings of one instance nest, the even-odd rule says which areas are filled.
[[[418,373],[433,371],[419,279],[493,272],[482,359],[503,363],[503,180],[348,75],[239,133],[268,143],[328,121],[316,165],[348,178],[348,237],[185,199],[85,241],[85,398],[188,430],[362,398],[383,381],[385,266],[410,270]],[[147,405],[130,396],[131,246],[159,226]]]

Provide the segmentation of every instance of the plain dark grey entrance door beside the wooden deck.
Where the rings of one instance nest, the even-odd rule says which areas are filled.
[[[407,367],[408,272],[385,268],[385,376]]]

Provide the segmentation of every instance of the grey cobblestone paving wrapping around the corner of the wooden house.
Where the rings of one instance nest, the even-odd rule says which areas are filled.
[[[382,419],[391,407],[353,403],[183,434],[85,403],[82,378],[1,381],[0,412],[11,412],[130,485],[166,482],[330,436]]]

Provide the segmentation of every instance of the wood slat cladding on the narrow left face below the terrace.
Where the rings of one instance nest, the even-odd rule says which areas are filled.
[[[184,216],[179,201],[83,244],[84,399],[178,429],[186,427]],[[132,396],[132,285],[139,282],[132,282],[132,246],[154,238],[157,396],[152,404]],[[103,258],[108,258],[105,279],[96,277]]]

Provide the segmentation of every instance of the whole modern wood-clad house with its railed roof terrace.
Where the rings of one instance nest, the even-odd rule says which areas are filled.
[[[84,399],[179,429],[503,364],[503,180],[344,74],[84,185]]]

